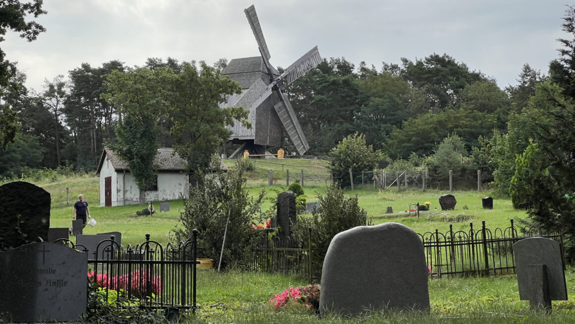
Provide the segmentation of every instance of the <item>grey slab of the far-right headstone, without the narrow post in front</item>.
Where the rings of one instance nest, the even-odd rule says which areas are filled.
[[[532,277],[535,274],[532,274],[530,265],[546,266],[551,300],[567,300],[565,272],[563,272],[563,258],[559,242],[542,237],[522,239],[513,244],[513,254],[520,300],[536,298],[531,293],[531,286],[535,284]]]

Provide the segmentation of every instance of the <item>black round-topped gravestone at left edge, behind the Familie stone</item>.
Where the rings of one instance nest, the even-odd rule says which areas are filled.
[[[29,182],[0,186],[0,251],[48,241],[50,204],[50,194]]]

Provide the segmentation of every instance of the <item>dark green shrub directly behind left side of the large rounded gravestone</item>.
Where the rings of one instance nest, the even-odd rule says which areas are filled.
[[[325,190],[325,196],[317,193],[317,201],[321,208],[312,212],[312,217],[298,216],[294,224],[294,236],[300,241],[308,239],[308,228],[312,228],[312,248],[326,249],[331,239],[339,232],[362,225],[372,225],[371,218],[367,218],[365,209],[359,207],[358,196],[344,196],[343,189],[333,182]],[[321,272],[325,251],[318,252],[321,262],[315,264],[318,268],[314,273]]]

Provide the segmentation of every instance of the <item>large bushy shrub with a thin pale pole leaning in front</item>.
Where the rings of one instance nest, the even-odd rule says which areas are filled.
[[[200,231],[198,254],[219,260],[229,215],[221,266],[246,264],[252,256],[252,243],[259,237],[259,231],[251,226],[254,216],[262,215],[260,205],[266,195],[262,190],[255,199],[250,197],[246,189],[248,163],[237,159],[227,174],[218,170],[206,177],[199,188],[190,186],[189,199],[184,200],[185,210],[180,213],[181,224],[170,232],[171,239],[187,241],[196,228]]]

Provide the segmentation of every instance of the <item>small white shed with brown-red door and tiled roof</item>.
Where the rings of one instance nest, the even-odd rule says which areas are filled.
[[[155,157],[159,169],[155,184],[145,190],[144,201],[165,201],[187,197],[189,176],[186,161],[171,148],[159,148]],[[130,173],[128,163],[121,161],[109,148],[104,148],[96,176],[100,178],[100,206],[122,206],[140,203],[140,190]]]

